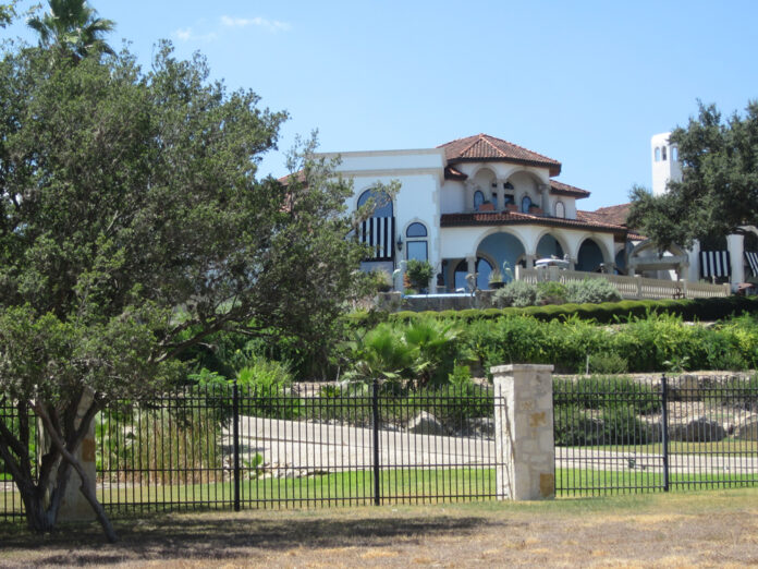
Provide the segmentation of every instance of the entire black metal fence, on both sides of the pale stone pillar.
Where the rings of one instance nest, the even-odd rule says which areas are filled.
[[[552,383],[558,496],[758,484],[758,376]],[[122,401],[95,420],[97,494],[117,516],[503,498],[505,408],[472,385],[213,386]],[[21,427],[9,403],[0,420]],[[0,462],[0,519],[21,517]]]

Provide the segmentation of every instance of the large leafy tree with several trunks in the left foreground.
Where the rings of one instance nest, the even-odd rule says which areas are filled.
[[[318,337],[359,284],[352,189],[309,152],[291,183],[260,179],[285,113],[168,44],[149,73],[126,52],[8,52],[0,100],[0,404],[20,417],[0,461],[33,530],[56,525],[73,469],[114,540],[76,459],[89,420],[180,377],[215,332]],[[50,441],[36,476],[30,414]]]

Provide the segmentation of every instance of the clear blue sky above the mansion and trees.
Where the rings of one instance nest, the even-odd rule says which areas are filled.
[[[20,0],[25,8],[33,2]],[[47,0],[42,0],[47,7]],[[156,43],[200,51],[213,78],[286,110],[280,152],[430,148],[487,133],[563,164],[596,209],[651,185],[650,136],[697,101],[758,98],[758,2],[90,0],[149,66]],[[23,23],[5,34],[35,40]]]

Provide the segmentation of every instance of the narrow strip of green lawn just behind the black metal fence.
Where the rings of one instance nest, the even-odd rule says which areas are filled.
[[[663,488],[663,475],[649,470],[559,469],[559,497],[656,492]],[[758,486],[751,474],[672,474],[670,489],[709,489]],[[351,471],[301,479],[259,479],[241,483],[242,507],[308,508],[329,505],[370,505],[374,501],[371,471]],[[382,473],[382,504],[430,504],[494,498],[496,472],[487,469],[404,469]],[[233,504],[231,482],[173,485],[112,485],[99,489],[98,498],[111,510],[131,511],[222,508]],[[20,511],[16,493],[0,493],[0,512]]]

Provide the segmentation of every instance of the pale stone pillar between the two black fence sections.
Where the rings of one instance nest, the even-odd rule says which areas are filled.
[[[555,496],[552,370],[552,365],[533,364],[490,368],[499,499]]]

